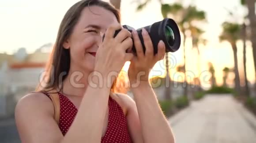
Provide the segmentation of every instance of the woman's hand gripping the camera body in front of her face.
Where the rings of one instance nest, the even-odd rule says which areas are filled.
[[[121,31],[114,38],[116,30]],[[94,71],[99,72],[105,79],[119,74],[126,61],[133,57],[132,53],[126,53],[126,50],[132,47],[132,34],[121,25],[112,25],[105,32],[105,38],[97,50]],[[113,79],[111,78],[111,85]]]

